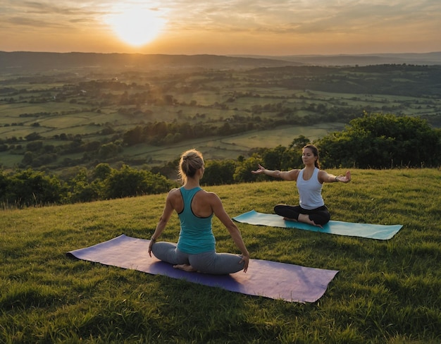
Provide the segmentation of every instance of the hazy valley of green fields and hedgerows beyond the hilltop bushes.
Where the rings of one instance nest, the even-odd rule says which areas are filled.
[[[342,130],[364,111],[423,116],[438,127],[437,73],[436,67],[373,66],[130,73],[85,68],[2,75],[0,144],[5,140],[5,145],[0,164],[18,164],[27,150],[26,137],[33,133],[44,146],[68,145],[75,138],[81,144],[113,142],[121,147],[128,130],[158,122],[204,126],[205,137],[191,140],[197,135],[186,133],[182,140],[182,133],[173,130],[161,137],[150,134],[149,144],[125,146],[108,161],[163,164],[188,147],[209,159],[235,159],[255,147],[289,145],[299,135],[317,140]],[[170,140],[163,140],[168,134]],[[66,140],[58,140],[61,135]],[[99,146],[82,163],[94,164],[98,153]],[[33,154],[36,158],[44,152]],[[41,167],[60,168],[66,158],[82,156],[56,154],[54,164]]]

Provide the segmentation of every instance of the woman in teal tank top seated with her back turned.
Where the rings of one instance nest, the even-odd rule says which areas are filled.
[[[204,176],[204,159],[196,149],[182,153],[179,173],[183,186],[168,192],[166,206],[149,243],[151,253],[163,262],[185,271],[205,274],[233,274],[247,272],[249,252],[239,228],[223,208],[221,199],[214,192],[206,192],[199,186]],[[173,211],[180,219],[178,244],[156,242]],[[211,229],[211,219],[216,215],[228,229],[232,240],[242,254],[216,252],[216,239]]]

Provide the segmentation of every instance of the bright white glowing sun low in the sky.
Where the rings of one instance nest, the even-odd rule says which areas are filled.
[[[119,39],[134,47],[153,41],[163,30],[166,20],[157,11],[135,6],[108,17],[108,25]]]

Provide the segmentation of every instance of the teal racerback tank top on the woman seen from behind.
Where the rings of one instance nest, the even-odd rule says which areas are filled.
[[[180,188],[184,209],[178,214],[180,219],[180,233],[178,240],[178,250],[197,254],[216,250],[216,240],[211,229],[211,219],[213,214],[208,217],[198,217],[192,211],[192,199],[201,188],[186,190]]]

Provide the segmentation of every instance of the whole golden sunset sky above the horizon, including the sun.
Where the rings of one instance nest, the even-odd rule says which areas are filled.
[[[441,51],[440,0],[2,0],[0,51]]]

